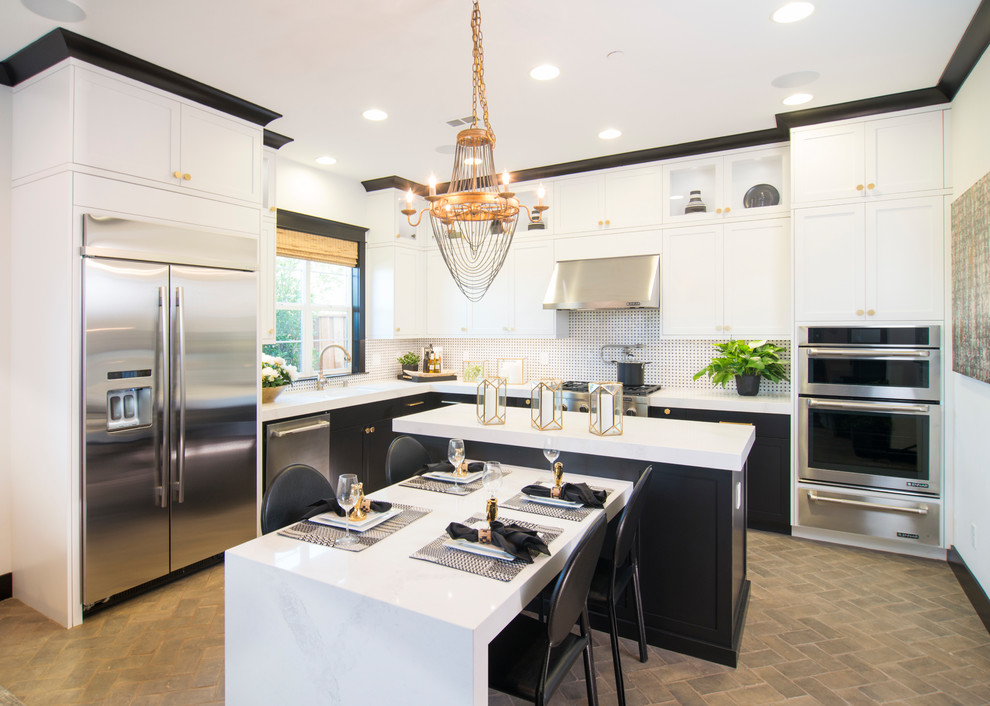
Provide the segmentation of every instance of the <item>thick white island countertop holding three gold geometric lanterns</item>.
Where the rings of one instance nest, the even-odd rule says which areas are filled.
[[[587,414],[563,414],[562,430],[544,432],[530,425],[526,408],[509,407],[505,424],[485,426],[472,405],[447,405],[398,417],[392,430],[537,449],[552,436],[561,451],[728,471],[743,469],[756,439],[751,426],[640,417],[625,417],[621,436],[596,436],[588,431]]]

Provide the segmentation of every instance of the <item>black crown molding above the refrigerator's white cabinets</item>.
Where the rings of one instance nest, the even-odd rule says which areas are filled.
[[[188,98],[256,125],[264,126],[282,117],[281,113],[250,103],[62,27],[53,29],[41,39],[0,62],[0,67],[6,74],[8,85],[16,86],[69,57]]]

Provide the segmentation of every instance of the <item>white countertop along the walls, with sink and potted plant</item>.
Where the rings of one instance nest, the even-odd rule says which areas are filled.
[[[478,386],[473,382],[451,380],[447,382],[415,383],[401,380],[354,383],[348,387],[328,390],[292,392],[286,390],[274,402],[261,405],[261,421],[272,422],[288,417],[328,412],[342,407],[352,407],[370,402],[419,395],[424,392],[446,392],[473,395]],[[529,385],[509,385],[509,397],[528,397]],[[729,412],[758,412],[763,414],[790,414],[791,398],[788,394],[760,394],[742,397],[731,390],[695,390],[687,388],[663,389],[650,396],[652,407],[681,407],[686,409],[710,409]]]

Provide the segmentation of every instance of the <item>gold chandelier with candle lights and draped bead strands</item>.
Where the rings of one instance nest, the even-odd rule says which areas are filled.
[[[481,10],[474,0],[471,12],[471,37],[474,41],[472,71],[471,127],[457,133],[454,168],[447,193],[437,195],[436,179],[430,177],[429,205],[419,212],[412,206],[412,189],[406,194],[402,213],[413,228],[426,211],[430,212],[433,235],[443,261],[458,288],[469,300],[480,301],[498,274],[512,244],[520,209],[526,209],[531,224],[542,223],[543,187],[537,192],[537,205],[530,210],[509,191],[509,173],[503,172],[501,183],[495,173],[495,131],[488,119],[485,94],[485,55],[481,46]],[[478,127],[481,104],[484,127]],[[535,215],[534,215],[535,212]]]

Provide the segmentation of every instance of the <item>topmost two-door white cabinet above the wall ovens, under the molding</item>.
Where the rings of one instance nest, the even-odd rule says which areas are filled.
[[[795,128],[795,206],[942,189],[943,111]]]

